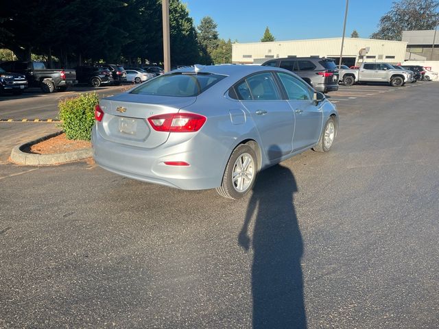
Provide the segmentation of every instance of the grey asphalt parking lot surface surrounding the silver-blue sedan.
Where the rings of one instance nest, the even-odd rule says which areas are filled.
[[[0,119],[53,116],[38,99],[59,95],[2,99]],[[11,164],[56,123],[0,122],[0,327],[437,328],[439,83],[328,96],[333,149],[238,201]]]

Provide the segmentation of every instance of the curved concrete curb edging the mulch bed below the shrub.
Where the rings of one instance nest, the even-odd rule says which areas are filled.
[[[38,138],[34,141],[17,145],[11,151],[10,160],[16,164],[25,164],[26,166],[44,166],[49,164],[61,164],[75,160],[82,160],[93,156],[93,151],[91,147],[88,147],[86,149],[80,149],[78,151],[56,154],[32,154],[23,151],[23,149],[30,147],[31,145],[34,145],[41,141],[45,141],[48,138],[58,136],[61,133],[62,132],[56,132],[54,134],[49,134],[47,136]]]

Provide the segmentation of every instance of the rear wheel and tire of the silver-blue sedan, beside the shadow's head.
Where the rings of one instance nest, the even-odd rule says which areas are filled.
[[[244,167],[245,165],[245,167]],[[251,191],[257,176],[257,157],[252,147],[237,146],[228,159],[217,193],[229,199],[240,199]]]

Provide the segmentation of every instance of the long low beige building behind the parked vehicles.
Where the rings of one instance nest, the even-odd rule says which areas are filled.
[[[234,43],[234,64],[262,64],[271,58],[318,56],[340,59],[342,38]],[[407,42],[363,38],[344,38],[343,64],[353,66],[361,62],[404,61]]]

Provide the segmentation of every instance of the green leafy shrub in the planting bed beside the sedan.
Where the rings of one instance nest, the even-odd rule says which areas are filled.
[[[61,100],[58,117],[67,139],[90,141],[91,128],[95,124],[95,106],[99,98],[96,93]]]

